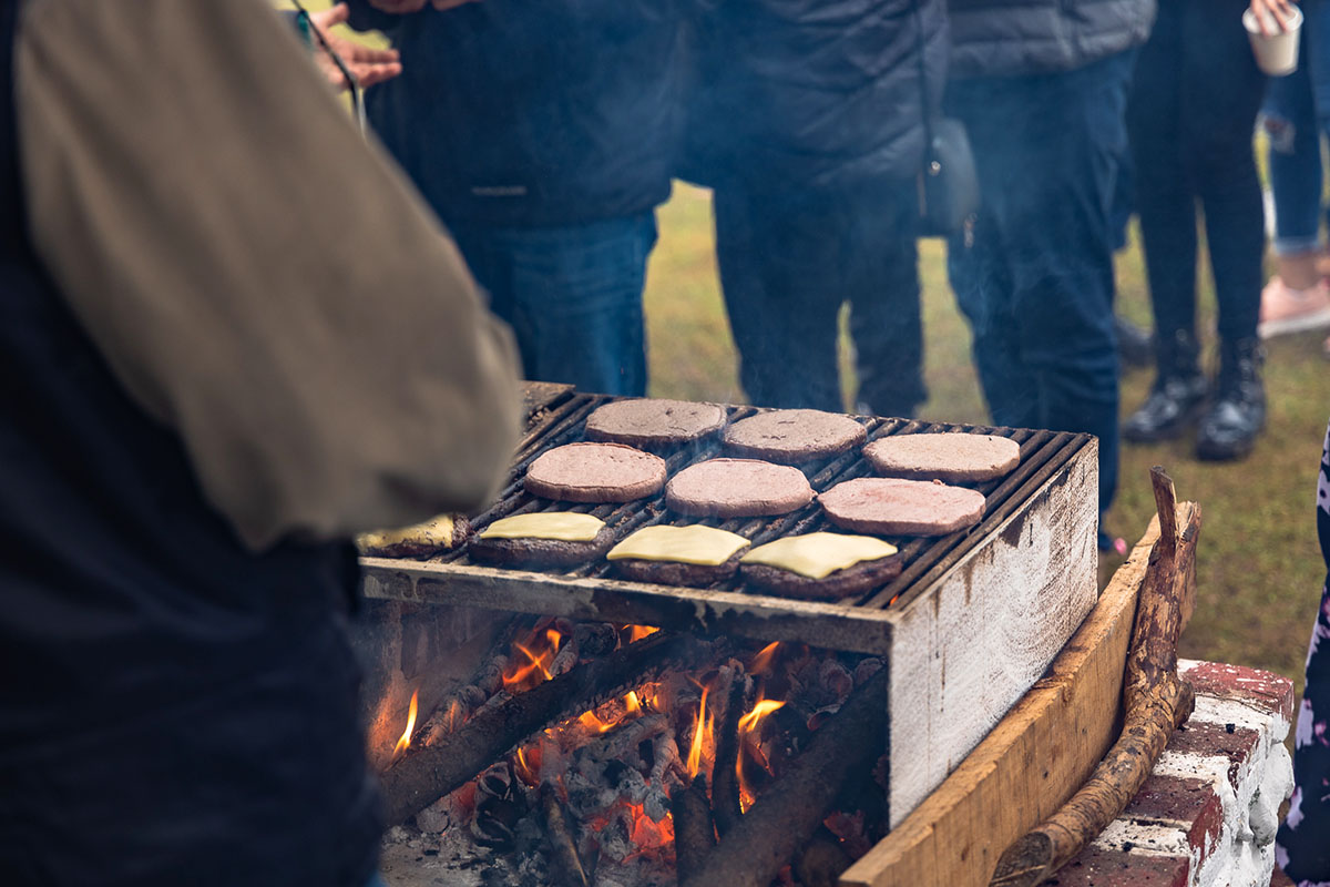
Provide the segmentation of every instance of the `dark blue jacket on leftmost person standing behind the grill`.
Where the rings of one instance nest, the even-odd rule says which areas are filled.
[[[400,77],[368,114],[451,226],[563,226],[669,197],[680,134],[674,0],[484,0],[390,16]]]

